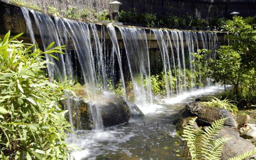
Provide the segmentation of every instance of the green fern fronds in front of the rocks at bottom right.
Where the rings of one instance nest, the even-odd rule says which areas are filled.
[[[212,122],[212,125],[202,130],[194,129],[196,118],[189,120],[188,125],[184,127],[183,140],[189,151],[189,158],[191,160],[220,160],[222,155],[222,148],[224,144],[232,138],[214,138],[217,136],[224,125],[227,118],[222,118]],[[229,160],[243,160],[256,153],[256,149],[250,152],[230,158]]]

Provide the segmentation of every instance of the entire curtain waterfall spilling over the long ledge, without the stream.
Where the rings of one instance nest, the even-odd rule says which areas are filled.
[[[124,89],[122,96],[126,100],[125,80],[130,78],[135,103],[138,106],[148,106],[148,103],[152,103],[151,56],[156,58],[156,62],[163,64],[166,97],[180,95],[195,89],[195,83],[198,82],[194,75],[198,69],[194,69],[195,66],[192,64],[192,60],[195,58],[190,53],[199,48],[205,48],[213,50],[209,58],[216,57],[215,50],[218,46],[218,39],[216,33],[212,32],[152,29],[146,33],[146,30],[142,28],[97,26],[66,18],[53,18],[45,13],[23,7],[21,10],[32,43],[35,43],[35,36],[29,12],[34,17],[44,50],[52,42],[55,42],[54,46],[66,46],[66,50],[63,50],[64,55],[54,53],[58,60],[46,55],[46,58],[54,63],[54,65],[48,64],[50,79],[58,78],[64,81],[68,76],[69,79],[76,80],[80,76],[77,74],[79,72],[81,82],[86,84],[88,100],[92,102],[95,102],[97,96],[96,89],[101,88],[108,91],[108,85],[111,83],[116,86],[116,82],[119,80],[120,86]],[[153,36],[151,32],[154,33]],[[120,39],[118,39],[119,33],[121,34]],[[155,49],[156,52],[151,49]],[[160,53],[161,57],[153,55],[156,53]],[[201,74],[199,70],[199,85],[201,86],[203,82],[210,85],[210,80],[202,79]],[[73,124],[72,112],[76,112],[77,108],[71,108],[70,97],[66,93],[65,96],[69,120]],[[103,128],[100,106],[89,105],[89,110],[95,130],[100,130]]]

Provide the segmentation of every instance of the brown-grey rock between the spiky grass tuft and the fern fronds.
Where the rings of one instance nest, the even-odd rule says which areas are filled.
[[[232,114],[225,109],[222,108],[202,108],[198,111],[198,123],[200,126],[210,126],[212,122],[215,120],[219,120],[220,118],[229,118],[225,120],[224,126],[230,126],[232,128],[237,128],[236,121]]]

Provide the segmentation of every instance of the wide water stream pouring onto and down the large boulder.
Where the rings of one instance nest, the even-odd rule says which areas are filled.
[[[88,84],[92,96],[87,90],[88,99],[95,102],[96,98],[96,69],[94,65],[94,57],[92,52],[92,44],[90,40],[90,31],[87,23],[62,19],[66,27],[68,36],[72,40],[72,45],[76,50],[76,55],[80,64],[84,82]],[[58,23],[57,23],[58,24]],[[92,119],[94,120],[94,128],[99,130],[103,128],[100,107],[95,104],[89,105]]]

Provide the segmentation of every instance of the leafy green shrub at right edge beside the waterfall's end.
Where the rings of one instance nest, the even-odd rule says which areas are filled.
[[[229,46],[221,46],[216,58],[209,58],[209,53],[193,54],[196,68],[203,70],[201,75],[214,79],[214,82],[231,84],[234,90],[232,100],[255,101],[256,84],[256,24],[254,17],[234,17],[227,20],[224,29],[229,34]],[[198,57],[199,56],[199,57]],[[200,58],[202,56],[202,58]],[[227,95],[230,96],[230,95]],[[222,98],[224,99],[224,98]],[[229,98],[230,99],[230,98]],[[251,99],[251,100],[250,100]]]

